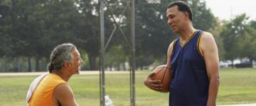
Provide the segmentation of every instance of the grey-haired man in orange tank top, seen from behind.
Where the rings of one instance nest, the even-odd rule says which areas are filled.
[[[50,54],[49,73],[36,86],[28,105],[78,105],[68,86],[68,80],[73,74],[80,72],[82,62],[75,45],[65,43],[55,47]]]

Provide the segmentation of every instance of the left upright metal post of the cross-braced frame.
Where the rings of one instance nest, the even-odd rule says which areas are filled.
[[[100,0],[100,42],[101,42],[101,105],[105,106],[105,30],[104,30],[104,0]]]

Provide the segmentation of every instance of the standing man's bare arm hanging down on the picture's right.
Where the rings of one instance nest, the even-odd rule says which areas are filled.
[[[219,58],[218,49],[210,33],[201,36],[201,50],[206,61],[206,71],[209,78],[207,106],[215,106],[219,86]]]

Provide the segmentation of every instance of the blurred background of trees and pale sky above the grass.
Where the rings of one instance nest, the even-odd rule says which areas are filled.
[[[130,1],[106,1],[130,40]],[[171,1],[135,1],[137,70],[166,64],[169,44],[178,37],[166,23],[166,6]],[[255,68],[256,7],[252,0],[184,1],[192,8],[194,27],[215,37],[220,67]],[[64,42],[78,47],[85,61],[81,70],[98,70],[99,6],[97,0],[0,0],[0,72],[46,71],[51,50]],[[110,14],[105,8],[105,42],[115,27]],[[122,33],[115,31],[106,51],[106,69],[129,70],[129,56]]]

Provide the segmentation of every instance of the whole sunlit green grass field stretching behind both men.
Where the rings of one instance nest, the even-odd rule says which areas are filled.
[[[136,105],[168,105],[169,94],[149,90],[143,80],[151,71],[136,72]],[[129,73],[106,74],[106,95],[116,106],[128,106]],[[2,106],[26,105],[28,86],[36,76],[1,76],[0,104]],[[79,105],[100,105],[99,75],[80,75],[70,78]],[[220,69],[220,88],[217,104],[256,103],[256,69]]]

